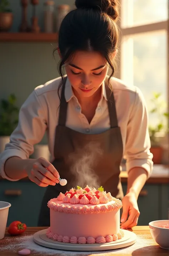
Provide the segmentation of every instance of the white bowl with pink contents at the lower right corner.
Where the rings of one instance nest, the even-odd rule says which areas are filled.
[[[169,226],[169,220],[152,221],[149,223],[150,233],[158,245],[169,250],[169,228],[163,226]]]

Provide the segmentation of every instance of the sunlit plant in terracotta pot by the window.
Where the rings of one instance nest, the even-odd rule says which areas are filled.
[[[162,162],[163,147],[160,143],[160,139],[165,137],[169,131],[168,129],[168,119],[169,113],[165,112],[165,101],[161,100],[161,93],[153,93],[153,98],[151,99],[154,104],[150,113],[156,115],[157,123],[152,126],[149,125],[149,134],[151,141],[150,152],[153,154],[153,162],[159,164]]]

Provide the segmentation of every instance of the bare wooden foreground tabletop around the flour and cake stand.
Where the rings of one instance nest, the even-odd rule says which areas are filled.
[[[37,231],[40,231],[42,229],[45,229],[47,227],[28,227],[26,232],[24,234],[22,234],[21,236],[27,236],[27,235],[31,235],[36,233]],[[107,253],[102,253],[102,256],[163,256],[163,255],[168,255],[168,250],[164,250],[162,248],[159,247],[159,245],[152,239],[152,236],[150,234],[149,231],[149,227],[148,226],[136,226],[132,229],[130,229],[130,231],[134,232],[135,234],[137,234],[137,236],[142,236],[143,238],[146,238],[146,241],[149,243],[143,244],[142,248],[133,250],[132,246],[130,247],[130,253],[126,252],[124,253],[124,251],[122,253],[116,253],[116,252],[108,252]],[[13,244],[17,244],[19,242],[19,236],[10,236],[10,234],[5,233],[5,237],[0,240],[0,248],[5,248],[6,245],[9,245],[10,243]],[[147,245],[148,244],[148,245]],[[15,249],[16,246],[14,246],[13,250],[0,250],[0,255],[2,256],[18,256],[18,251],[23,249],[23,247],[18,247],[17,250]],[[30,248],[31,250],[31,248]],[[101,253],[101,252],[100,252]],[[100,254],[99,253],[99,254]],[[30,256],[36,256],[36,255],[42,255],[39,252],[33,252],[30,254]],[[48,254],[43,252],[43,256],[47,256]],[[55,256],[61,256],[63,254],[55,254]],[[66,254],[68,255],[68,253]],[[71,253],[72,255],[72,253]],[[76,254],[77,255],[77,254]],[[83,252],[80,253],[81,256],[83,256]],[[97,256],[98,254],[88,254],[88,256]],[[87,256],[87,254],[85,253],[85,256]]]

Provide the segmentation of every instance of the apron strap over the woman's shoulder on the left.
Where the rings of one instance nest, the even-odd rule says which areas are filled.
[[[61,125],[61,126],[66,125],[66,116],[67,116],[67,101],[65,99],[66,80],[67,80],[67,77],[65,77],[64,80],[63,80],[60,110],[59,110],[59,119],[58,119],[58,125]]]

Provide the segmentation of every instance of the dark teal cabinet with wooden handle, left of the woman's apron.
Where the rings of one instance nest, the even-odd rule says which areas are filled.
[[[11,195],[11,193],[15,194],[18,190],[21,194]],[[21,221],[28,227],[37,226],[45,191],[46,188],[42,188],[31,181],[0,181],[0,201],[11,203],[7,226],[12,221]]]

